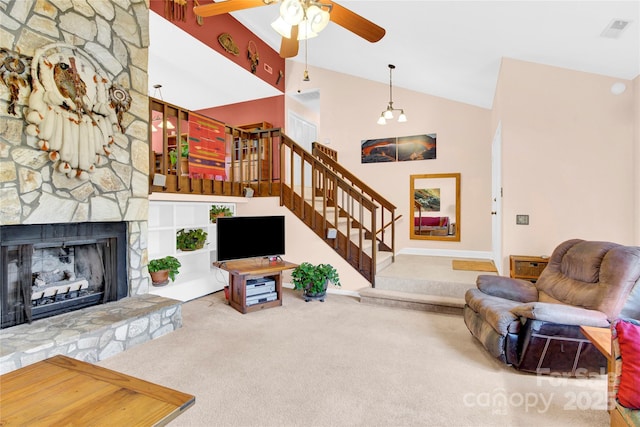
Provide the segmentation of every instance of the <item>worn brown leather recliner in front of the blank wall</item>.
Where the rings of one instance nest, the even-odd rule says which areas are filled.
[[[480,275],[476,284],[464,322],[493,356],[527,372],[601,373],[606,360],[580,325],[640,319],[640,247],[568,240],[536,283]]]

